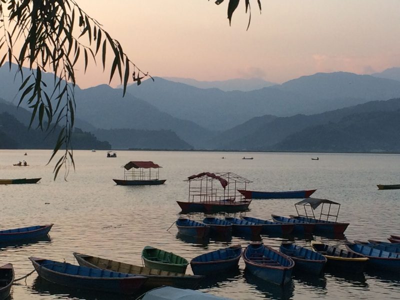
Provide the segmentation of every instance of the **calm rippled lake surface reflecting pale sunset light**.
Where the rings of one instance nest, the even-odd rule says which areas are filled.
[[[376,184],[400,183],[400,155],[118,151],[106,158],[105,151],[74,151],[75,172],[52,180],[52,165],[45,165],[50,150],[0,150],[0,178],[42,177],[37,184],[0,185],[1,229],[54,223],[50,237],[15,246],[0,246],[0,264],[11,262],[19,278],[33,267],[29,256],[76,263],[72,252],[140,264],[145,245],[173,251],[187,259],[230,244],[250,240],[196,243],[176,235],[179,206],[186,200],[188,183],[183,180],[202,171],[235,172],[253,182],[253,190],[317,188],[314,197],[341,203],[338,221],[349,222],[345,238],[385,240],[400,235],[400,190],[377,190]],[[253,156],[253,160],[241,157]],[[226,159],[221,159],[224,156]],[[319,156],[319,160],[311,157]],[[29,166],[12,166],[25,159]],[[120,167],[130,160],[152,160],[160,164],[159,186],[118,186]],[[270,214],[295,214],[298,199],[253,200],[246,215],[269,219]],[[202,219],[201,213],[190,215]],[[278,247],[285,238],[261,236],[265,244]],[[310,239],[338,240],[319,236],[288,236],[301,245]],[[188,273],[191,273],[190,266]],[[12,298],[25,299],[125,299],[113,294],[76,291],[40,280],[34,272],[13,286]],[[400,298],[400,274],[365,272],[361,275],[325,272],[320,277],[293,276],[283,288],[259,280],[244,271],[210,279],[200,290],[233,299],[371,299]]]

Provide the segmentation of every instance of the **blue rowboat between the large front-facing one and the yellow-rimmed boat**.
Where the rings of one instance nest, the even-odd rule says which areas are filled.
[[[318,275],[326,263],[326,257],[322,254],[294,243],[282,242],[279,250],[294,260],[294,269],[300,272],[306,271]]]

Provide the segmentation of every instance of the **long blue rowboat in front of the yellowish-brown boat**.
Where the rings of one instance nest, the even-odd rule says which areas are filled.
[[[52,283],[77,289],[133,294],[147,277],[29,257],[37,274]]]

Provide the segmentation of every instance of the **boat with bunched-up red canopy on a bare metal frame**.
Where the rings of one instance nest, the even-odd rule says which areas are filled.
[[[252,182],[232,172],[202,172],[185,180],[189,183],[188,200],[176,201],[183,212],[237,212],[248,209],[251,200],[242,199],[238,188]]]

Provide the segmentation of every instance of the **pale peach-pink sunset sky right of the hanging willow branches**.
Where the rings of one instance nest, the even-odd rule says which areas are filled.
[[[227,1],[77,3],[154,76],[280,83],[315,72],[371,73],[400,66],[400,0],[261,0],[261,14],[250,0],[248,31],[244,0],[230,27]],[[107,77],[91,69],[77,82],[87,87],[107,83]]]

